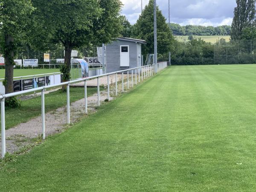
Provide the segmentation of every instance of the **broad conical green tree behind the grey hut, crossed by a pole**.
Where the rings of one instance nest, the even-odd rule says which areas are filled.
[[[154,1],[149,0],[132,31],[134,38],[143,39],[147,42],[143,46],[143,55],[154,53]],[[166,23],[166,18],[157,6],[157,51],[165,54],[174,49],[174,37]]]

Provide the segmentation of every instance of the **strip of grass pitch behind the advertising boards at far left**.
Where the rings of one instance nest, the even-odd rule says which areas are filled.
[[[32,76],[32,75],[39,75],[44,73],[55,73],[60,72],[59,69],[15,69],[13,71],[14,77],[20,76]],[[0,69],[0,79],[3,79],[5,75],[5,70]]]

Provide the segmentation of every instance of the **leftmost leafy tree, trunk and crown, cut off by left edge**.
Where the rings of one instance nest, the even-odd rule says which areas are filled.
[[[29,15],[34,10],[30,0],[0,1],[0,52],[5,58],[5,89],[13,92],[13,67],[17,44],[26,38]]]

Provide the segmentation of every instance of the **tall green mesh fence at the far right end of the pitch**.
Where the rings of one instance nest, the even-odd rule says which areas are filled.
[[[255,64],[256,41],[239,40],[214,45],[215,64]]]

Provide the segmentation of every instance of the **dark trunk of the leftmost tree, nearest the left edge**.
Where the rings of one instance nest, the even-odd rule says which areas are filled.
[[[5,35],[5,44],[5,91],[13,93],[14,39],[11,35]]]

